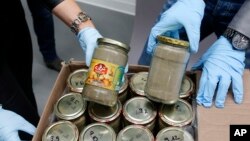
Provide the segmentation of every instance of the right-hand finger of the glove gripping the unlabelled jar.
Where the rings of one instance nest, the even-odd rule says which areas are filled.
[[[193,27],[190,24],[184,25],[188,40],[189,40],[189,50],[191,53],[196,53],[199,48],[199,42],[200,42],[200,26],[199,27]]]

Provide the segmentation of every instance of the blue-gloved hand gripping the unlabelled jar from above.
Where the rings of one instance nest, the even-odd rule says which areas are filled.
[[[204,9],[205,3],[203,0],[178,0],[174,3],[162,13],[159,22],[151,29],[147,53],[153,53],[158,35],[165,33],[165,35],[171,35],[173,38],[179,38],[178,30],[183,26],[190,42],[190,52],[197,52]]]

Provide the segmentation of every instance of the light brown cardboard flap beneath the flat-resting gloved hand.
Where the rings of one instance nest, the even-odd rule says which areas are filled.
[[[229,141],[230,125],[250,125],[250,70],[244,72],[244,101],[235,104],[229,92],[225,107],[197,106],[197,141]]]

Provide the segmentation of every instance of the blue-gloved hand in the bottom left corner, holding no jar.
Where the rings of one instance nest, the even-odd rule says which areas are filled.
[[[20,115],[0,105],[0,141],[20,141],[18,130],[34,135],[36,128]]]

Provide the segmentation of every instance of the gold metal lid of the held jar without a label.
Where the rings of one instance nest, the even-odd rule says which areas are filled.
[[[185,48],[189,47],[189,43],[187,41],[184,41],[184,40],[179,40],[179,39],[170,38],[170,37],[166,37],[166,36],[160,36],[160,35],[157,36],[157,39],[158,39],[158,41],[160,41],[162,43],[172,44],[172,45],[185,47]]]

